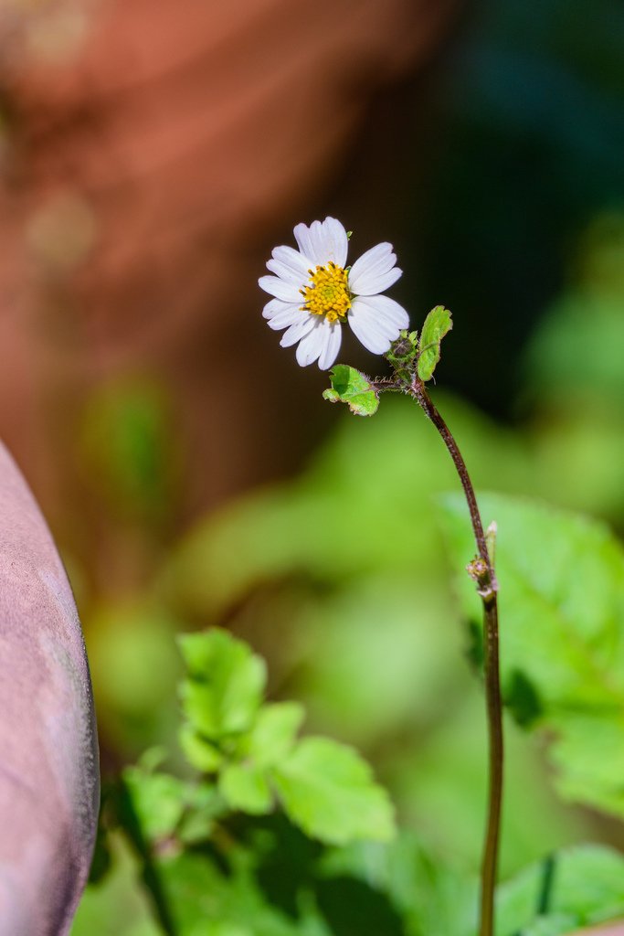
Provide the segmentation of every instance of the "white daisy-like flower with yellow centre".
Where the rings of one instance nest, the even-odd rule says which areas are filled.
[[[391,243],[378,243],[347,267],[347,232],[336,218],[297,225],[293,247],[276,247],[259,285],[274,298],[263,315],[271,329],[286,329],[280,344],[297,344],[301,367],[318,359],[322,371],[331,367],[341,347],[341,328],[348,322],[356,338],[384,354],[409,326],[405,309],[382,296],[399,279]]]

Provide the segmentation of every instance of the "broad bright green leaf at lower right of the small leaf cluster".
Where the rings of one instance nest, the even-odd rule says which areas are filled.
[[[351,748],[306,738],[271,773],[283,808],[313,838],[344,844],[394,835],[390,799]]]

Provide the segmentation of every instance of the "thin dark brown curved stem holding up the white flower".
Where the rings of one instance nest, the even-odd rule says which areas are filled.
[[[472,578],[477,582],[477,591],[481,596],[484,613],[484,673],[486,681],[487,734],[489,746],[489,782],[487,793],[486,841],[481,865],[481,914],[479,936],[494,936],[494,889],[496,886],[501,832],[502,802],[502,708],[501,678],[499,672],[499,614],[498,582],[494,566],[486,545],[481,515],[477,506],[472,481],[466,462],[457,446],[451,431],[431,401],[425,384],[414,375],[409,391],[414,400],[423,408],[435,428],[440,432],[447,447],[461,486],[466,495],[471,515],[472,531],[476,542],[479,560],[469,566]]]

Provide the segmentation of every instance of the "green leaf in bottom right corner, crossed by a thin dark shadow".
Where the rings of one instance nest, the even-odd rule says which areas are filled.
[[[598,845],[565,849],[497,891],[500,936],[562,936],[622,914],[624,857]]]

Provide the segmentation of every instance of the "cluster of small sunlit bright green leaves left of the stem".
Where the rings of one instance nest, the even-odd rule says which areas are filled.
[[[291,820],[323,841],[392,836],[389,798],[368,765],[336,741],[298,740],[303,709],[263,703],[266,667],[247,644],[213,629],[181,637],[181,650],[182,747],[196,768],[218,775],[231,810],[266,814],[277,795]]]

